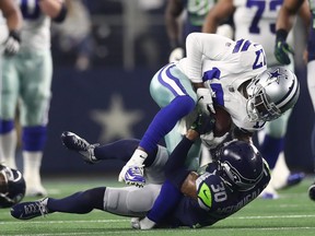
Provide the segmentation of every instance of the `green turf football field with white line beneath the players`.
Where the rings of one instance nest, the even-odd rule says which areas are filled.
[[[0,210],[0,235],[172,235],[172,236],[275,236],[315,235],[315,202],[307,197],[307,188],[313,178],[306,178],[296,187],[279,191],[278,200],[257,199],[236,214],[211,227],[202,229],[152,229],[130,228],[128,217],[112,215],[101,211],[89,214],[54,213],[46,217],[19,221],[10,215],[9,209]],[[74,191],[97,186],[114,186],[114,180],[101,178],[44,179],[49,196],[66,197]],[[122,186],[122,185],[121,185]],[[34,200],[25,198],[24,201]]]

